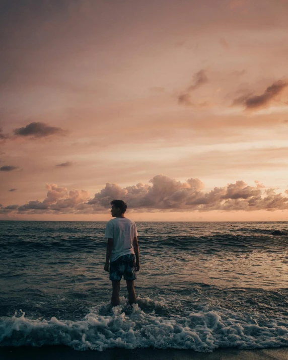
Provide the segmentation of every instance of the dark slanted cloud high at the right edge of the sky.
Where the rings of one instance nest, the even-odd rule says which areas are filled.
[[[243,95],[235,99],[233,105],[244,105],[247,110],[266,107],[287,86],[287,82],[276,81],[271,86],[268,86],[263,94],[256,96],[252,96],[252,94]]]

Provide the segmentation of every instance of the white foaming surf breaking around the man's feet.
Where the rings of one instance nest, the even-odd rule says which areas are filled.
[[[142,299],[142,308],[164,304]],[[102,314],[102,315],[100,315]],[[288,346],[288,319],[263,314],[235,313],[215,308],[191,311],[188,316],[156,316],[139,305],[96,307],[81,321],[31,320],[22,313],[0,318],[0,345],[63,344],[78,350],[112,347],[193,349],[210,352],[218,347],[266,348]]]

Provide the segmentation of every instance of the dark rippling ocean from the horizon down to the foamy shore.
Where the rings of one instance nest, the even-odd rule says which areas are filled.
[[[288,346],[287,222],[136,223],[138,303],[122,280],[114,308],[105,225],[0,222],[0,346]]]

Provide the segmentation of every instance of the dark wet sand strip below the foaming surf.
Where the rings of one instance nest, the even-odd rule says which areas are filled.
[[[196,352],[194,350],[180,349],[153,349],[135,348],[133,350],[124,348],[112,348],[104,351],[86,350],[78,351],[63,345],[53,346],[1,346],[0,358],[2,360],[147,360],[148,358],[158,360],[285,360],[288,358],[288,347],[266,348],[266,349],[238,349],[219,348],[213,352]]]

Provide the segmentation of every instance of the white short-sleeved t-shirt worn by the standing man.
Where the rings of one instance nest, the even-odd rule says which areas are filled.
[[[134,254],[133,239],[138,236],[136,224],[127,218],[114,218],[108,221],[105,238],[113,239],[113,250],[110,262],[120,256]]]

